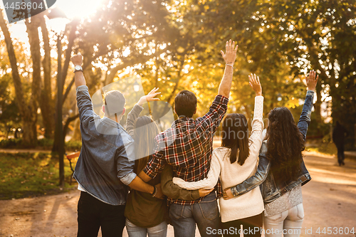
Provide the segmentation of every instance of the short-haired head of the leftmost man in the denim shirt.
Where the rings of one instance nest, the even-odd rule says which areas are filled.
[[[113,117],[122,115],[125,107],[125,97],[118,90],[110,90],[104,94],[105,116]]]

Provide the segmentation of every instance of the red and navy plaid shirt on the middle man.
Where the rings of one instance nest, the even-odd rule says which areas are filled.
[[[172,127],[156,137],[157,147],[151,161],[144,172],[155,178],[162,172],[165,164],[173,167],[176,177],[185,181],[199,181],[207,177],[210,169],[213,136],[219,127],[226,110],[228,98],[217,95],[204,117],[193,120],[182,117],[174,121]],[[220,181],[216,185],[218,196],[221,197]],[[181,205],[196,204],[204,198],[195,201],[169,199],[171,203]]]

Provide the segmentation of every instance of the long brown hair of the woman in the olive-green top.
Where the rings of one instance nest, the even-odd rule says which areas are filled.
[[[150,117],[138,117],[135,123],[135,167],[134,172],[140,173],[145,169],[146,164],[150,159],[150,154],[153,154],[155,149],[155,137],[159,134],[159,129]]]

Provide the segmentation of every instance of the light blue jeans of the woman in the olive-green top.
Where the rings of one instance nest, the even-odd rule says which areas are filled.
[[[146,237],[147,233],[149,237],[166,237],[167,236],[167,222],[163,221],[157,226],[150,228],[142,228],[140,226],[135,226],[131,223],[128,218],[126,218],[126,229],[129,237]]]

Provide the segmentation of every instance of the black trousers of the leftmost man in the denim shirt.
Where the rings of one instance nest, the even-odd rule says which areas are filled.
[[[82,191],[78,201],[78,237],[121,237],[125,227],[125,205],[112,206]]]

